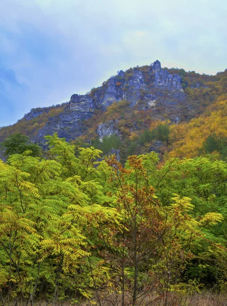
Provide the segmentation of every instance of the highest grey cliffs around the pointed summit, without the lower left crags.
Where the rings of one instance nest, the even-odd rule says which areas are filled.
[[[158,60],[150,65],[149,76],[150,82],[147,83],[144,80],[143,72],[138,67],[128,73],[121,70],[118,75],[107,81],[106,88],[100,88],[95,92],[93,97],[95,107],[105,111],[113,102],[122,99],[129,101],[130,107],[134,107],[140,99],[143,99],[144,91],[147,91],[147,97],[149,96],[150,89],[153,91],[164,89],[170,92],[183,91],[181,77],[162,69]],[[147,98],[147,100],[149,100],[149,107],[155,105],[156,98]]]

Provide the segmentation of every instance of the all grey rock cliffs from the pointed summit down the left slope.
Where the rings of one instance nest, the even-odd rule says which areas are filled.
[[[75,139],[86,132],[84,121],[91,118],[95,110],[106,111],[114,102],[120,100],[128,101],[131,108],[137,107],[141,101],[141,110],[152,109],[156,118],[164,119],[163,113],[168,108],[169,119],[174,122],[180,115],[176,105],[185,104],[185,94],[182,88],[182,79],[178,74],[170,74],[168,70],[162,69],[157,60],[146,71],[140,67],[130,68],[127,71],[119,71],[115,77],[89,94],[73,94],[64,111],[59,115],[49,117],[48,122],[40,129],[34,140],[44,143],[43,136],[58,132],[59,137],[65,137],[67,141]],[[163,111],[160,112],[160,109]],[[40,111],[33,110],[27,114],[26,119],[40,115]],[[179,118],[180,120],[180,118]],[[96,131],[100,140],[104,136],[118,134],[117,122],[110,121],[102,123]]]

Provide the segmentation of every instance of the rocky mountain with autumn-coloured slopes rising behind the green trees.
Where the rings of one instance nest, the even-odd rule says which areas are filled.
[[[17,123],[2,127],[0,141],[20,132],[44,145],[44,136],[57,132],[67,141],[80,138],[85,143],[95,143],[96,139],[100,145],[104,137],[117,135],[126,147],[132,142],[139,146],[146,143],[141,141],[145,131],[155,131],[158,125],[166,123],[170,126],[171,142],[150,135],[146,149],[160,150],[164,146],[162,151],[174,150],[184,144],[184,131],[189,133],[188,124],[192,124],[193,118],[209,116],[213,105],[215,110],[219,108],[226,96],[226,80],[226,70],[217,75],[199,74],[162,68],[157,60],[121,70],[102,86],[85,95],[73,94],[62,105],[32,109]],[[172,156],[177,156],[177,150]]]

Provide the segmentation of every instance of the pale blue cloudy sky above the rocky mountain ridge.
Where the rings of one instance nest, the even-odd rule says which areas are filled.
[[[118,70],[227,68],[226,0],[0,0],[0,126]]]

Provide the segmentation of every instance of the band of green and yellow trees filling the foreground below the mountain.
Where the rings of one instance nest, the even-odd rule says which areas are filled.
[[[141,144],[169,135],[154,131]],[[45,139],[45,151],[18,133],[1,144],[3,306],[226,304],[225,138],[210,135],[197,157],[123,162]]]

